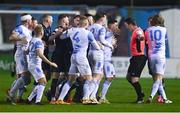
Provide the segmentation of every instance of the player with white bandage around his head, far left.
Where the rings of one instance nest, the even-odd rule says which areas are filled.
[[[15,28],[9,37],[9,40],[15,42],[17,50],[15,52],[16,74],[20,76],[8,92],[8,99],[12,104],[15,104],[15,94],[18,89],[23,88],[30,83],[30,74],[27,69],[26,50],[31,40],[31,31],[28,29],[32,22],[32,17],[29,14],[21,15],[21,25]]]

